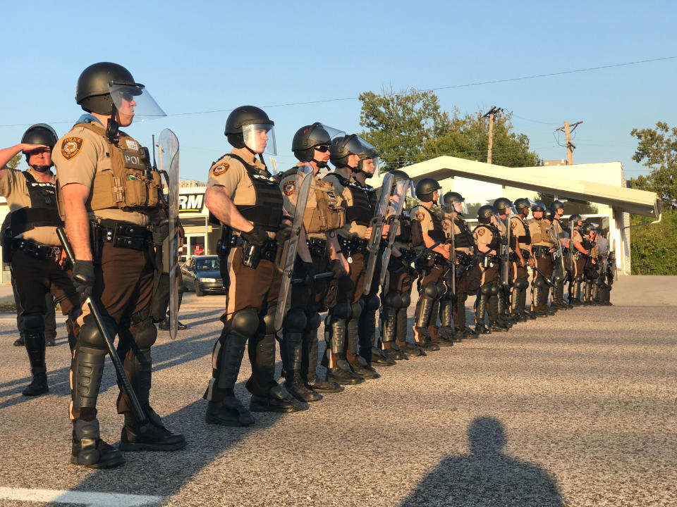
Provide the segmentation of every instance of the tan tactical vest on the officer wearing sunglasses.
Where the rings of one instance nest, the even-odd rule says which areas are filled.
[[[298,167],[291,168],[281,177],[286,180],[290,175],[295,175]],[[317,176],[312,177],[308,202],[303,213],[303,227],[305,232],[327,232],[341,229],[346,223],[346,208],[341,206],[343,199],[336,194],[334,184],[321,180]]]

